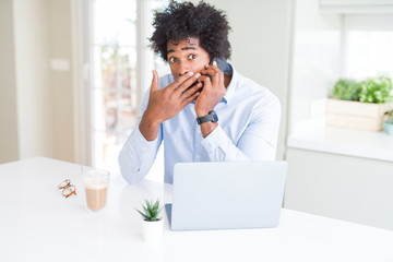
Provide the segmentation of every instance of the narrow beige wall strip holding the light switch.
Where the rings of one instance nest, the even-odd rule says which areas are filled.
[[[48,61],[59,61],[61,67],[50,67],[49,85],[52,110],[53,156],[74,162],[74,92],[72,71],[71,1],[48,2]]]

